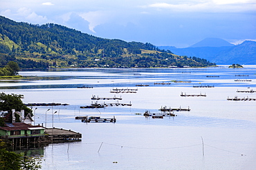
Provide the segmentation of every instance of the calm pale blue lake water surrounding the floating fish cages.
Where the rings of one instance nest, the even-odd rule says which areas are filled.
[[[37,107],[36,110],[34,107],[36,124],[82,133],[81,142],[44,147],[42,169],[256,169],[256,101],[227,100],[235,96],[256,98],[256,93],[237,93],[237,89],[248,90],[248,87],[256,90],[256,65],[242,69],[221,65],[186,69],[69,69],[19,74],[44,79],[3,81],[1,91],[24,94],[24,103],[69,104]],[[154,85],[162,82],[171,85]],[[138,84],[149,86],[136,87]],[[93,88],[77,88],[83,85]],[[119,103],[131,103],[131,107],[80,109],[91,104],[92,95],[113,97],[115,94],[110,91],[116,87],[138,88],[135,94],[116,94],[122,97]],[[206,96],[183,97],[181,92]],[[98,101],[103,102],[117,101]],[[143,116],[146,110],[161,113],[158,109],[164,106],[190,107],[191,111],[174,111],[175,117]],[[46,112],[47,109],[51,110]],[[53,114],[55,111],[57,114]],[[115,116],[117,121],[82,123],[75,120],[75,116]]]

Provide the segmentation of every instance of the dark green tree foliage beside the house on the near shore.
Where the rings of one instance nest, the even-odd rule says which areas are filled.
[[[28,113],[32,114],[32,109],[26,107],[21,98],[24,98],[22,94],[5,94],[2,92],[0,94],[0,110],[8,111],[10,113],[12,109],[15,109],[16,111],[24,109],[25,116],[27,116]]]

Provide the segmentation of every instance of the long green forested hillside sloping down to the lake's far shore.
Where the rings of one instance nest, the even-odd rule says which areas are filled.
[[[102,39],[62,25],[18,23],[0,16],[0,66],[46,67],[204,67],[205,59],[176,56],[150,43]]]

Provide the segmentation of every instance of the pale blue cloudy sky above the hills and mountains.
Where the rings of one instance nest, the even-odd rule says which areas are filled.
[[[256,41],[256,0],[0,0],[0,15],[156,46]]]

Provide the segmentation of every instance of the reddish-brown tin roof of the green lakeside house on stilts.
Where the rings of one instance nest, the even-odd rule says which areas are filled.
[[[41,127],[39,125],[33,126],[26,123],[6,123],[5,127],[0,127],[4,131],[15,131],[15,130],[29,130],[31,128]]]

